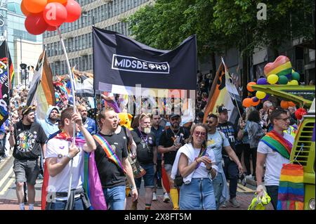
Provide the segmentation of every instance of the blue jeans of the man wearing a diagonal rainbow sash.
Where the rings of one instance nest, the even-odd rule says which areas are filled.
[[[103,188],[103,194],[105,197],[105,202],[107,202],[107,208],[110,210],[124,210],[125,204],[125,185]]]

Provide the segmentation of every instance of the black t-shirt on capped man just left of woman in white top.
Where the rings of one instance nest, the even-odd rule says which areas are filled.
[[[180,127],[180,130],[178,133],[175,131],[176,136],[180,137],[180,133],[183,133],[183,140],[181,142],[182,145],[185,144],[185,139],[190,137],[189,131],[185,129],[184,127]],[[171,147],[174,144],[174,141],[176,140],[176,136],[173,134],[171,129],[167,129],[166,131],[162,132],[162,136],[159,140],[159,145],[162,145],[163,147]],[[164,164],[171,164],[173,165],[174,159],[176,159],[177,151],[171,151],[171,152],[165,152],[164,153]]]

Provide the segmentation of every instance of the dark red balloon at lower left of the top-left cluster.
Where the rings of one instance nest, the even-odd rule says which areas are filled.
[[[42,13],[27,15],[24,24],[27,32],[33,35],[44,33],[48,27],[48,24],[45,22]]]

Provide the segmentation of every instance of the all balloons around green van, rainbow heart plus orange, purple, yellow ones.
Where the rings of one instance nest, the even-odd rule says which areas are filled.
[[[291,61],[287,56],[280,55],[274,62],[270,62],[264,67],[265,78],[258,79],[257,82],[251,81],[246,88],[249,92],[255,92],[251,87],[253,85],[298,85],[300,74],[292,69]],[[242,101],[244,107],[256,107],[259,103],[268,100],[270,95],[263,91],[256,91],[256,96],[252,98],[245,98]],[[294,107],[296,104],[291,101],[281,101],[281,107],[287,109]]]

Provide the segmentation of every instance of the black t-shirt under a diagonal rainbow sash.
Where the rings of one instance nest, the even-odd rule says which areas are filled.
[[[107,140],[107,142],[112,146],[112,149],[114,150],[115,154],[117,154],[119,161],[121,161],[121,164],[123,164],[123,159],[127,157],[127,149],[126,144],[124,143],[124,140],[122,140],[121,136],[117,134],[113,134],[111,136],[105,136],[102,133],[99,134],[100,136],[103,136],[103,138],[105,138],[105,140]],[[96,166],[98,168],[102,187],[112,188],[125,185],[124,171],[107,157],[103,147],[101,147],[97,141],[96,146]]]

